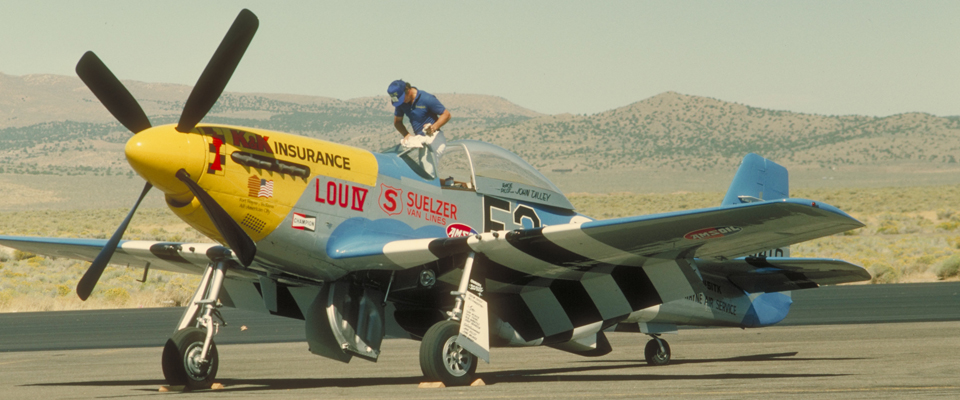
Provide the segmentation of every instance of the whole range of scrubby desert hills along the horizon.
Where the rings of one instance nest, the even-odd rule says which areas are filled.
[[[124,81],[154,125],[174,123],[190,87]],[[496,96],[437,94],[448,139],[477,139],[541,170],[730,170],[747,152],[791,168],[956,165],[960,118],[773,111],[666,92],[593,115],[544,115]],[[386,96],[338,100],[225,93],[208,123],[271,129],[381,150],[399,139]],[[0,73],[0,172],[132,175],[129,138],[76,77]]]

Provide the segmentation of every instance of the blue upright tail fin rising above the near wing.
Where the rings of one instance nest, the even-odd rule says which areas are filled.
[[[721,207],[761,200],[790,197],[787,169],[773,161],[750,153],[743,158],[740,169],[730,183]]]

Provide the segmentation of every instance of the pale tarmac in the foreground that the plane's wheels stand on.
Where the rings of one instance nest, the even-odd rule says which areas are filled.
[[[611,335],[614,352],[494,349],[484,387],[418,389],[417,343],[387,340],[378,363],[343,365],[304,343],[220,346],[216,398],[918,398],[960,397],[960,322],[695,329],[668,339],[674,362],[650,367],[645,339]],[[5,399],[159,393],[159,347],[0,354]]]

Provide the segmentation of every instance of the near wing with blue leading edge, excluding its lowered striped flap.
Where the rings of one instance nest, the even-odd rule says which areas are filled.
[[[334,259],[380,268],[412,268],[475,251],[493,262],[541,277],[604,265],[642,266],[650,258],[727,260],[828,236],[863,224],[839,209],[781,199],[603,221],[553,225],[466,238],[404,239],[389,235],[334,241]],[[349,235],[347,235],[349,236]],[[371,240],[372,239],[372,240]]]

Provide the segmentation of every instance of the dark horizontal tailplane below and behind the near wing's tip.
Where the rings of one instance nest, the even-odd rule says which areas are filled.
[[[863,267],[829,258],[746,257],[696,262],[701,272],[727,278],[749,293],[809,289],[870,279],[870,273]]]

